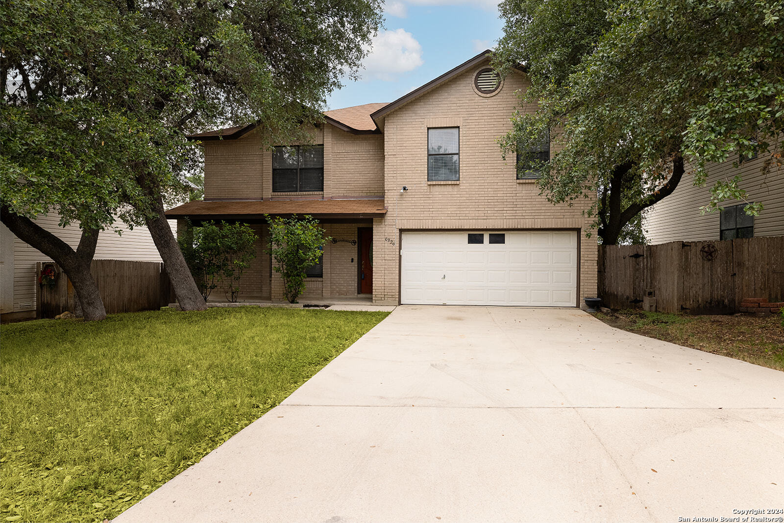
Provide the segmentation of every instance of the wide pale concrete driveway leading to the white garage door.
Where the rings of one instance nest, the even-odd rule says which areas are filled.
[[[577,309],[404,306],[115,521],[744,521],[738,510],[760,509],[784,509],[784,372]]]

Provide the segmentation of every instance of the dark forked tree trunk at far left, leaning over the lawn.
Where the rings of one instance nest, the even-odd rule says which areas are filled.
[[[49,256],[63,269],[74,285],[78,305],[82,309],[81,313],[85,320],[95,321],[106,318],[106,309],[100,299],[98,285],[93,274],[90,273],[90,265],[93,263],[98,242],[97,229],[84,229],[78,248],[74,251],[70,245],[54,234],[6,207],[2,208],[0,216],[5,227],[16,234],[17,238]]]

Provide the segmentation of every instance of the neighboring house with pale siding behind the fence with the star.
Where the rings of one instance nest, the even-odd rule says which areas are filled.
[[[773,165],[764,174],[760,171],[763,162],[757,157],[740,162],[738,167],[732,166],[733,160],[711,164],[704,187],[695,187],[690,176],[684,176],[673,194],[645,213],[643,228],[648,241],[658,244],[784,235],[784,172]],[[736,200],[722,202],[722,211],[702,214],[699,208],[710,202],[713,183],[736,175],[742,176],[741,187],[746,189],[749,202],[764,204],[760,216],[747,215],[743,211],[746,203]]]

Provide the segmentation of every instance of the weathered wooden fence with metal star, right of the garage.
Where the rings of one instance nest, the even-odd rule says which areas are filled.
[[[646,300],[648,296],[648,300]],[[731,314],[744,298],[784,301],[784,236],[723,242],[600,245],[605,307]]]

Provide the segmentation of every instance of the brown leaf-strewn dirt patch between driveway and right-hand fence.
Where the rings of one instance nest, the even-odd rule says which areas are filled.
[[[784,371],[784,326],[778,314],[758,318],[631,310],[595,316],[617,329]]]

